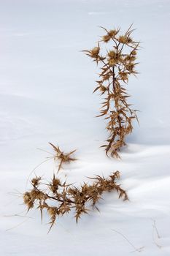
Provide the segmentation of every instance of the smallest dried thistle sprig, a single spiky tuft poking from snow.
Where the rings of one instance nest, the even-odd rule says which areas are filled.
[[[52,143],[50,143],[50,145],[53,147],[53,149],[55,151],[55,155],[54,155],[53,159],[59,161],[58,171],[61,170],[63,163],[66,163],[66,162],[69,163],[69,162],[77,160],[76,158],[71,157],[71,155],[74,154],[76,149],[74,149],[73,151],[71,151],[69,153],[64,153],[63,151],[61,151],[59,146],[55,146]]]

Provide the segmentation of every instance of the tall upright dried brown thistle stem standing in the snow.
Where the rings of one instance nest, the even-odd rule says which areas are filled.
[[[131,25],[132,26],[132,25]],[[125,146],[126,135],[132,132],[132,120],[137,119],[136,111],[131,108],[127,102],[128,93],[125,85],[128,83],[130,75],[136,75],[136,53],[139,50],[139,42],[136,42],[131,34],[134,29],[131,26],[124,34],[120,29],[107,30],[103,27],[106,34],[98,41],[97,46],[92,50],[82,50],[90,56],[96,64],[100,64],[99,79],[97,86],[93,91],[101,91],[104,94],[101,114],[107,119],[107,130],[109,138],[105,148],[106,154],[112,157],[120,158],[117,151]],[[110,46],[110,50],[101,53],[101,44]]]

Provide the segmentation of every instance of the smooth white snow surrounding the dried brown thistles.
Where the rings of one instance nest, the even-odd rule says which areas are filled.
[[[169,7],[169,0],[0,1],[1,256],[170,255]],[[131,23],[142,50],[140,74],[127,89],[140,126],[134,123],[119,161],[99,148],[107,131],[95,118],[98,69],[81,50],[96,46],[104,34],[98,26],[125,31]],[[20,193],[31,170],[50,156],[45,151],[53,152],[49,141],[64,151],[77,148],[79,160],[61,176],[78,185],[120,170],[130,200],[106,194],[100,213],[91,211],[78,225],[69,214],[49,234],[39,211],[21,217]],[[53,171],[49,161],[36,175],[50,178]]]

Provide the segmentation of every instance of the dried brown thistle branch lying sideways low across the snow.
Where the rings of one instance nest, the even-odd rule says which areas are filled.
[[[23,194],[23,202],[28,211],[31,208],[38,208],[41,216],[46,210],[50,217],[51,229],[56,219],[69,213],[72,208],[74,208],[74,217],[78,222],[82,214],[88,214],[90,211],[89,204],[92,209],[97,208],[96,203],[101,199],[104,192],[116,191],[119,198],[128,200],[125,190],[117,184],[118,178],[120,178],[120,172],[116,171],[108,178],[97,175],[90,178],[93,179],[92,184],[84,182],[80,187],[75,187],[72,184],[66,184],[66,181],[62,182],[55,175],[53,175],[52,181],[47,182],[47,184],[42,182],[41,177],[35,177],[31,180],[32,189]]]

